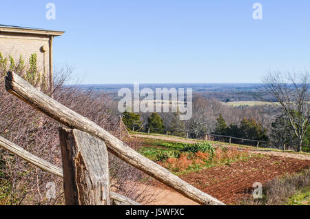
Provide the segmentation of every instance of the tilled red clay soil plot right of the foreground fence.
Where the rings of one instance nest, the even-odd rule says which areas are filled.
[[[231,163],[230,166],[203,169],[180,178],[229,205],[249,196],[256,182],[264,184],[272,178],[296,173],[309,166],[310,160],[264,156]]]

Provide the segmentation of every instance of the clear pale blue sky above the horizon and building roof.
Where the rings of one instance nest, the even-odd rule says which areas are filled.
[[[0,18],[66,31],[54,65],[74,66],[82,83],[259,83],[268,70],[310,70],[309,0],[15,0]]]

